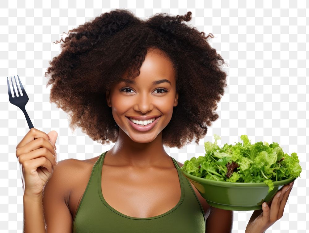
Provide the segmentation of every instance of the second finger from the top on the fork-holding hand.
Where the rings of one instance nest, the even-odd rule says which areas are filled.
[[[40,137],[40,138],[30,141],[28,144],[22,147],[17,148],[16,157],[19,157],[21,154],[25,154],[25,153],[28,153],[30,151],[33,151],[39,148],[46,148],[49,150],[50,153],[52,153],[53,155],[56,155],[56,151],[53,148],[53,145],[50,144],[50,142],[44,139],[43,137]]]

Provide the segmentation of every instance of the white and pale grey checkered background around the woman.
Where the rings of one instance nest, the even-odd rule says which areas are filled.
[[[0,1],[0,231],[23,229],[23,190],[15,147],[29,130],[22,111],[9,103],[6,77],[19,75],[29,96],[26,109],[33,125],[46,133],[58,132],[58,160],[100,155],[112,145],[97,144],[79,129],[71,131],[68,115],[49,103],[44,72],[60,52],[53,42],[63,32],[101,13],[126,8],[141,18],[192,11],[188,24],[213,33],[209,43],[230,64],[228,87],[216,110],[219,119],[208,128],[205,139],[198,146],[165,148],[167,153],[180,162],[203,155],[203,143],[213,141],[214,133],[222,137],[219,145],[234,144],[247,134],[252,142],[275,141],[284,152],[298,153],[301,178],[294,183],[283,217],[267,232],[305,232],[309,228],[307,7],[305,0]],[[234,211],[233,233],[244,232],[252,212]]]

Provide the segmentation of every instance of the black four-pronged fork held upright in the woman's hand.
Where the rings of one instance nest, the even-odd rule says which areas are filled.
[[[16,88],[17,88],[17,92],[18,92],[18,96],[16,96],[16,92],[15,92],[15,88],[14,88],[14,83],[13,83],[12,76],[11,76],[11,83],[12,83],[13,92],[14,92],[14,96],[15,96],[15,97],[12,97],[11,88],[10,88],[10,84],[9,84],[9,78],[8,77],[6,77],[6,78],[7,78],[7,90],[8,90],[8,93],[9,93],[9,100],[10,100],[10,102],[12,104],[16,105],[17,107],[19,107],[20,110],[23,111],[23,114],[25,114],[25,117],[26,117],[29,129],[34,128],[32,122],[31,122],[31,120],[30,120],[30,118],[28,116],[28,113],[26,111],[26,104],[28,103],[29,97],[28,97],[25,89],[23,88],[23,84],[21,83],[21,81],[19,79],[19,76],[17,75],[17,78],[18,78],[18,81],[19,81],[19,85],[20,85],[21,91],[23,93],[22,96],[20,95],[19,88],[17,86],[17,82],[16,82],[16,79],[15,79],[15,76],[14,76],[15,84],[16,84]]]

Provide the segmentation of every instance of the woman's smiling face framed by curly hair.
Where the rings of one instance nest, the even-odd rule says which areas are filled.
[[[140,75],[114,84],[106,93],[119,130],[138,143],[155,140],[177,106],[175,72],[171,61],[159,51],[148,50]]]

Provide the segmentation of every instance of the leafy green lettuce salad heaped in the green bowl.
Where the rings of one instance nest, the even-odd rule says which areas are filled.
[[[302,168],[297,153],[288,155],[277,142],[251,144],[247,135],[240,136],[243,143],[227,143],[220,148],[214,134],[214,143],[205,142],[205,156],[184,162],[181,170],[204,179],[258,183],[264,182],[273,190],[273,181],[300,177]]]

